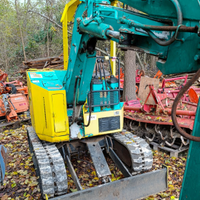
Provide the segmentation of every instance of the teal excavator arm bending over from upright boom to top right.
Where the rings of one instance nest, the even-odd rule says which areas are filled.
[[[111,6],[110,1],[82,1],[75,14],[71,50],[64,85],[68,104],[80,78],[78,104],[83,104],[95,65],[97,40],[112,40],[127,50],[140,50],[159,58],[164,73],[192,72],[199,68],[200,14],[186,10],[186,1],[121,1],[139,11]],[[192,6],[191,6],[192,4]],[[190,7],[198,7],[197,1]],[[66,46],[66,45],[65,45]],[[66,58],[67,59],[67,58]]]

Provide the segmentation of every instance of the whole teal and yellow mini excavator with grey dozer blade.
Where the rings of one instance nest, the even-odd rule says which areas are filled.
[[[166,168],[149,172],[153,157],[148,143],[123,129],[119,80],[113,75],[112,68],[109,78],[105,77],[104,69],[101,74],[99,65],[102,66],[105,60],[96,56],[95,46],[97,40],[111,40],[123,50],[140,50],[157,56],[157,67],[164,74],[195,72],[200,66],[200,1],[120,2],[133,7],[134,11],[115,7],[116,2],[112,0],[71,0],[61,19],[65,70],[27,72],[32,120],[32,127],[27,130],[28,140],[44,199],[128,200],[167,188]],[[74,13],[68,57],[67,23]],[[200,110],[198,107],[190,135],[179,127],[176,107],[182,94],[199,75],[200,70],[181,89],[172,109],[176,129],[194,141],[190,144],[181,199],[198,199],[193,195],[198,196],[200,191],[200,178],[194,173],[199,174],[200,143],[196,141],[200,141]],[[90,153],[102,184],[83,190],[71,157],[85,150]],[[123,173],[123,179],[111,181],[105,154]],[[65,163],[77,192],[67,193]],[[192,180],[189,177],[193,177]],[[195,194],[191,192],[194,190]]]

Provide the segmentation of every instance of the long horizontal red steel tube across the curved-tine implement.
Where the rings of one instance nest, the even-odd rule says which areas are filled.
[[[133,111],[142,111],[142,108],[137,108],[134,106],[124,106],[124,110],[133,110]],[[160,112],[168,113],[171,115],[172,109],[161,109]],[[189,110],[176,110],[176,115],[187,115],[187,116],[195,116],[196,111]]]

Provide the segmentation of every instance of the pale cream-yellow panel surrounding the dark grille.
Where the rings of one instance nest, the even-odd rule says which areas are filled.
[[[123,108],[121,110],[113,110],[113,111],[103,111],[103,112],[93,112],[91,114],[91,121],[88,127],[85,127],[85,136],[98,136],[110,133],[120,132],[123,129]],[[100,118],[109,118],[109,117],[120,117],[120,128],[117,130],[110,130],[106,132],[99,132],[99,119]],[[83,114],[84,124],[88,124],[89,113]]]

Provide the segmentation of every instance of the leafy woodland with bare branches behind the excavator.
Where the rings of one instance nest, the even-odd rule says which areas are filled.
[[[24,60],[60,55],[63,52],[62,30],[47,18],[62,26],[60,19],[68,1],[1,0],[0,68],[9,74],[16,74]],[[73,23],[69,27],[71,32],[72,28]],[[109,52],[108,41],[98,42],[97,47],[103,51],[108,48]],[[124,54],[120,49],[117,50],[117,55],[122,62],[124,62]],[[155,69],[155,61],[152,63],[150,56],[137,53],[136,58],[134,68],[149,71],[152,66]]]

